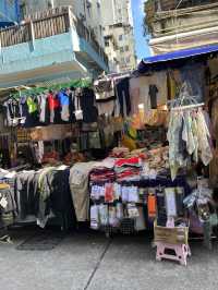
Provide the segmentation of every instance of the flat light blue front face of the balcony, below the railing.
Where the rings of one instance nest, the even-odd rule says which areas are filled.
[[[0,74],[44,68],[73,60],[74,52],[70,33],[36,39],[1,49]]]

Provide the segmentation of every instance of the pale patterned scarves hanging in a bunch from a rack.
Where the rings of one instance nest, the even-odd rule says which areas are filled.
[[[195,162],[199,157],[205,166],[213,159],[209,119],[201,108],[204,104],[196,104],[186,88],[184,85],[180,98],[173,101],[170,111],[168,141],[172,180],[180,168],[191,164],[191,157]]]

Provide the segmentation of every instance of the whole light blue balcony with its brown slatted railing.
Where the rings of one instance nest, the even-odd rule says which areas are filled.
[[[0,87],[108,70],[108,58],[71,8],[36,13],[0,31]]]

